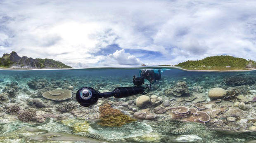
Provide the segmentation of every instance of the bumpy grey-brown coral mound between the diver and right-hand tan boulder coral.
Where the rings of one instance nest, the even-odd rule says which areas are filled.
[[[166,96],[187,96],[190,91],[186,82],[177,82],[171,89],[165,91]]]

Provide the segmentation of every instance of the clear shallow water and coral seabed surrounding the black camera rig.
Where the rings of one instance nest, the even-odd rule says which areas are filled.
[[[256,142],[256,71],[156,68],[161,80],[145,96],[99,98],[90,107],[76,101],[78,89],[134,86],[140,68],[0,70],[0,142]],[[220,100],[209,96],[214,88]]]

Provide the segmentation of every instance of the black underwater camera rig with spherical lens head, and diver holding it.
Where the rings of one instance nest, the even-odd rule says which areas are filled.
[[[83,87],[76,92],[76,100],[80,105],[89,107],[98,101],[98,98],[108,98],[114,96],[115,98],[123,98],[133,96],[136,94],[147,94],[156,80],[161,79],[161,69],[141,69],[139,76],[133,76],[133,87],[116,87],[111,92],[100,93],[92,87]],[[150,84],[145,84],[145,79]]]

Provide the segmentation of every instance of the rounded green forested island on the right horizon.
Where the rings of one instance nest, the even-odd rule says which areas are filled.
[[[251,68],[256,67],[256,62],[233,56],[210,56],[197,61],[185,61],[175,66],[183,67],[187,70],[247,70],[248,63]]]

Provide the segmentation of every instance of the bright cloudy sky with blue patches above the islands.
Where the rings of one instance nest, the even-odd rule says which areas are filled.
[[[256,0],[0,0],[0,55],[74,68],[256,60]]]

